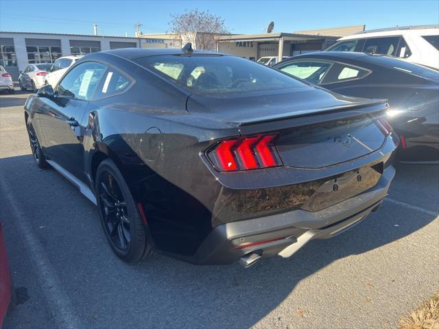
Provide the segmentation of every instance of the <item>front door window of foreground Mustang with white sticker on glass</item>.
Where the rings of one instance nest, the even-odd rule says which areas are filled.
[[[58,95],[76,99],[91,99],[107,66],[97,62],[84,62],[75,66],[58,84]]]

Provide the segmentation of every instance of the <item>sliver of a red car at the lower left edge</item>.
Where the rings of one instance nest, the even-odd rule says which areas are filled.
[[[0,220],[0,328],[5,319],[8,308],[14,306],[14,292],[8,265],[8,254],[6,253],[3,228]]]

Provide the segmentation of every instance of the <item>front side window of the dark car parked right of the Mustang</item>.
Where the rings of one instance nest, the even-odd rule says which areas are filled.
[[[290,75],[294,75],[294,77],[306,80],[311,84],[319,84],[330,67],[330,62],[306,61],[289,62],[278,69]]]

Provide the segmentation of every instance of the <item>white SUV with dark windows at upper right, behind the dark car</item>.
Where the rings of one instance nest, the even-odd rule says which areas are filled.
[[[395,27],[344,36],[326,51],[359,51],[403,58],[439,69],[439,26]]]

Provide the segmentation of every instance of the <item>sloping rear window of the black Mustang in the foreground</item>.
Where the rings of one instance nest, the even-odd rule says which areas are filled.
[[[150,56],[135,62],[160,73],[191,93],[247,93],[303,86],[298,80],[234,56]]]

